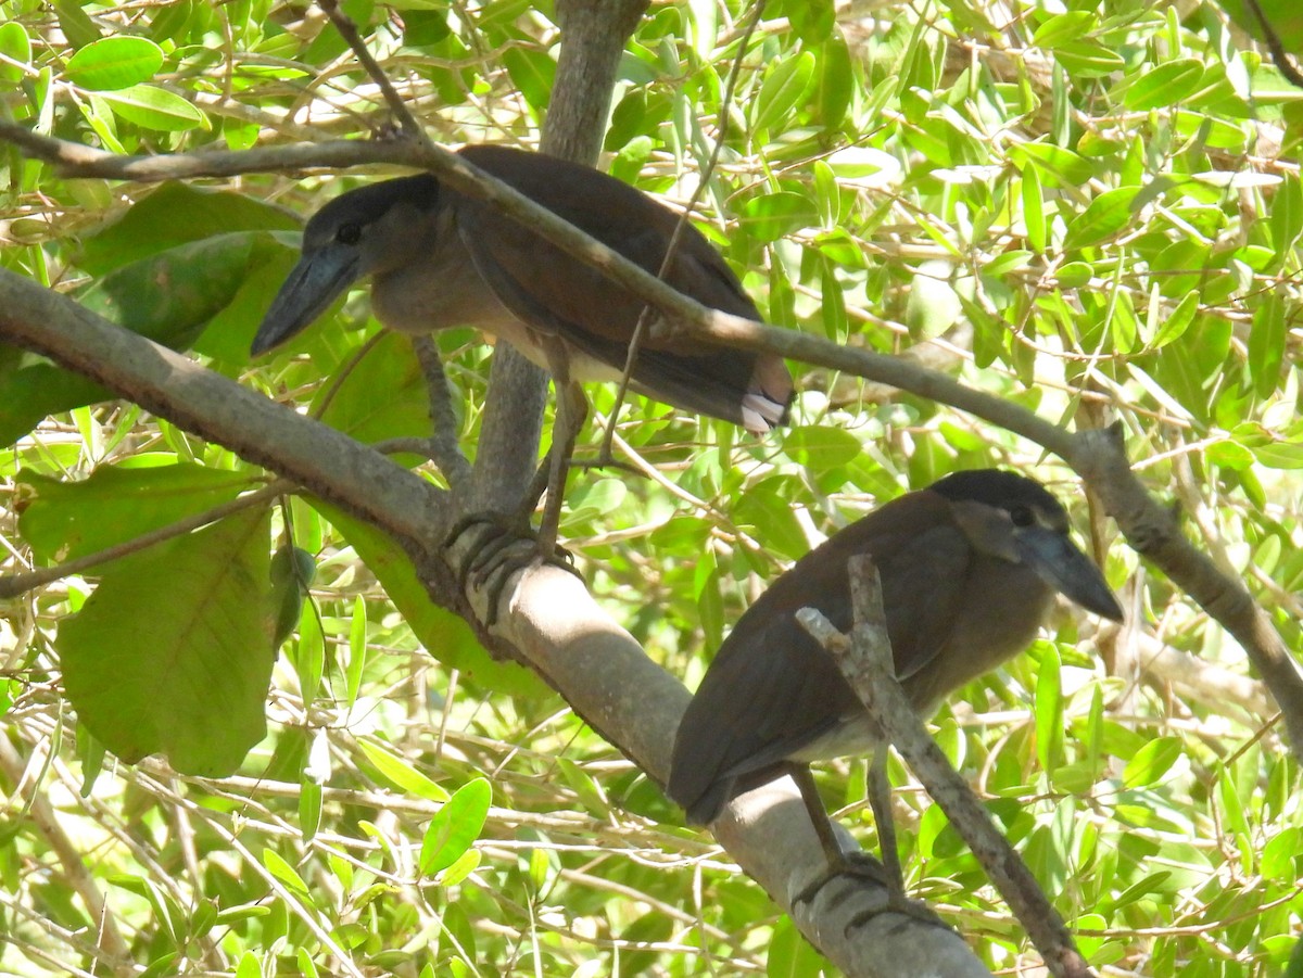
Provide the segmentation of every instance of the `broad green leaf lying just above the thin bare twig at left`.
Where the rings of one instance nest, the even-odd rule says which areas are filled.
[[[229,503],[254,484],[248,473],[160,464],[172,457],[100,465],[81,482],[20,473],[22,539],[42,563],[76,560]]]

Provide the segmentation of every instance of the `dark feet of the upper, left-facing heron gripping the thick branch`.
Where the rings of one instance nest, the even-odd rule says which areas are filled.
[[[496,624],[502,593],[517,570],[551,564],[584,580],[575,569],[568,551],[556,547],[555,543],[545,551],[529,525],[528,516],[521,513],[469,513],[453,524],[443,540],[444,548],[452,546],[472,527],[478,529],[470,551],[457,566],[457,589],[465,594],[466,586],[470,585],[477,591],[485,591],[489,599],[485,613],[486,628]]]

